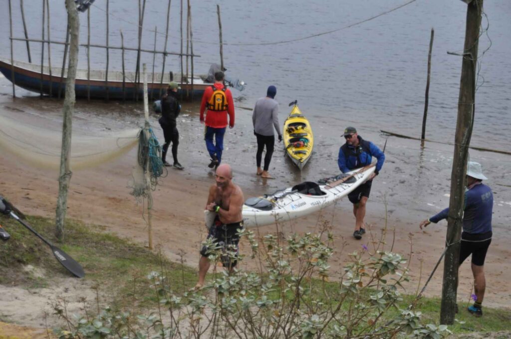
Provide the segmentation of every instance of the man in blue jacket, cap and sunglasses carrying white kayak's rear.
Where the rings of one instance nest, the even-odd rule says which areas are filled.
[[[346,128],[342,136],[346,139],[346,143],[340,147],[339,158],[337,160],[337,164],[342,173],[369,165],[373,159],[372,157],[376,157],[378,160],[375,172],[371,174],[365,183],[358,186],[348,195],[348,199],[353,203],[353,214],[355,214],[356,219],[353,236],[358,240],[361,239],[362,234],[365,233],[365,205],[369,198],[371,184],[373,183],[374,177],[380,173],[380,169],[385,161],[385,155],[373,142],[362,139],[362,137],[358,135],[355,127]]]

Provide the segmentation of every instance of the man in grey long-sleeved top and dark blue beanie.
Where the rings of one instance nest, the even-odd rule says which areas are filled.
[[[275,86],[269,86],[266,96],[260,98],[255,102],[254,110],[252,113],[252,123],[254,126],[254,135],[257,137],[257,153],[255,154],[255,161],[257,162],[257,175],[262,178],[272,179],[273,177],[268,173],[270,167],[271,156],[273,154],[273,147],[275,145],[275,133],[273,128],[277,131],[278,141],[282,141],[282,133],[279,129],[278,123],[278,103],[275,101],[275,94],[277,89]],[[261,168],[261,160],[263,150],[266,147],[266,155],[264,157],[264,167]]]

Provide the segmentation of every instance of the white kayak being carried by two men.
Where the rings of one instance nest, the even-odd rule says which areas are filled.
[[[249,198],[243,205],[243,224],[251,228],[282,223],[328,207],[366,182],[375,172],[375,165],[373,163],[318,182],[307,181],[277,190],[271,195]],[[206,227],[211,226],[216,213],[204,212]]]

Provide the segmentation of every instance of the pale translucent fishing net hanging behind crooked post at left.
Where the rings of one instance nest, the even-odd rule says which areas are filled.
[[[111,161],[132,149],[140,129],[109,131],[91,136],[73,130],[71,168],[94,167]],[[81,134],[80,134],[81,133]],[[62,131],[49,130],[0,115],[0,150],[40,168],[58,169]]]

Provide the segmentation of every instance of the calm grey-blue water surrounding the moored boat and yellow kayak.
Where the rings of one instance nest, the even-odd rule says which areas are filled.
[[[418,137],[421,133],[426,86],[427,56],[431,28],[435,29],[427,137],[440,142],[453,142],[461,59],[447,52],[461,52],[464,41],[466,5],[461,1],[417,0],[397,11],[361,25],[332,34],[291,43],[250,45],[307,37],[336,30],[388,11],[405,1],[279,1],[254,3],[247,0],[224,2],[222,26],[224,62],[228,74],[248,83],[244,92],[234,91],[237,102],[237,125],[226,135],[225,161],[233,164],[237,181],[251,192],[271,191],[301,180],[313,180],[338,172],[336,159],[340,135],[347,125],[383,147],[386,136],[380,130]],[[41,4],[25,2],[29,35],[41,37]],[[0,11],[0,56],[9,55],[8,7]],[[65,39],[65,13],[61,1],[50,1],[52,39]],[[91,43],[105,43],[105,2],[91,9]],[[125,45],[137,45],[137,2],[110,2],[110,44],[120,45],[123,30]],[[167,4],[148,1],[143,48],[153,49],[154,27],[165,31]],[[489,30],[479,42],[480,72],[476,93],[475,123],[471,144],[509,151],[511,137],[511,3],[507,0],[486,1],[483,27]],[[13,0],[14,32],[22,36],[19,3]],[[86,42],[87,16],[80,15],[80,42]],[[219,62],[216,6],[211,2],[193,2],[195,71],[206,72],[209,64]],[[157,49],[162,50],[165,37],[157,36]],[[27,60],[23,42],[15,42],[15,59]],[[31,44],[34,63],[40,63],[40,44]],[[484,55],[485,51],[489,47]],[[179,51],[179,2],[172,2],[168,50]],[[62,47],[52,47],[52,63],[61,63]],[[48,52],[45,52],[47,58]],[[481,57],[482,56],[482,57]],[[135,69],[135,53],[127,53],[127,68]],[[166,69],[178,71],[179,59],[169,57]],[[80,51],[80,66],[86,68],[85,49]],[[91,65],[104,68],[103,50],[91,52]],[[152,67],[152,55],[143,55]],[[45,63],[48,63],[45,59]],[[161,69],[161,57],[156,58]],[[110,52],[110,68],[121,69],[121,54]],[[315,133],[315,153],[303,173],[298,173],[279,148],[270,171],[277,177],[270,182],[255,178],[254,137],[251,108],[266,93],[268,85],[277,87],[276,99],[281,103],[280,119],[284,122],[287,104],[298,100],[300,109],[309,117]],[[0,79],[2,104],[10,105],[10,83]],[[18,89],[18,94],[33,96]],[[18,100],[28,114],[58,122],[59,103],[48,100],[41,107],[38,99]],[[180,119],[180,162],[185,174],[207,176],[207,157],[198,124],[198,107],[185,105]],[[57,113],[55,113],[57,112]],[[79,102],[77,123],[101,130],[105,126],[124,128],[138,124],[141,106],[119,103]],[[12,113],[14,114],[14,113]],[[161,134],[153,117],[153,126]],[[371,212],[383,210],[384,196],[391,213],[408,221],[419,221],[447,206],[449,198],[452,146],[389,137],[385,151],[387,162],[378,183],[371,192]],[[470,152],[472,160],[483,164],[488,183],[495,192],[495,220],[498,228],[511,224],[511,156]],[[347,203],[346,203],[347,204]],[[376,212],[375,212],[376,213]]]

